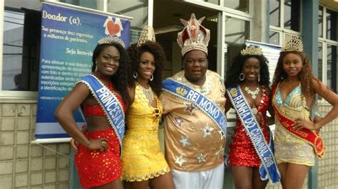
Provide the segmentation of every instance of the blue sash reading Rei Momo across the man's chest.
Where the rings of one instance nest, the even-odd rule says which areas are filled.
[[[210,99],[180,82],[167,79],[162,82],[163,91],[175,97],[194,102],[195,106],[205,113],[221,129],[223,134],[227,131],[227,119],[223,111]]]

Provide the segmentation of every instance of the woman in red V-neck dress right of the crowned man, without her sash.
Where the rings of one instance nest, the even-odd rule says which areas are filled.
[[[267,59],[260,50],[255,51],[255,48],[242,50],[227,68],[225,86],[240,85],[267,143],[270,143],[270,131],[267,126],[267,110],[271,107],[269,84]],[[225,112],[233,108],[230,97],[227,94],[226,97]],[[229,148],[229,164],[232,167],[235,188],[265,188],[267,180],[261,180],[259,173],[260,158],[238,116]]]

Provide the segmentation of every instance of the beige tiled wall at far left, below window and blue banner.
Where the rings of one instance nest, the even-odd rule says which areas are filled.
[[[1,189],[68,188],[69,145],[31,144],[35,121],[36,100],[0,102]]]

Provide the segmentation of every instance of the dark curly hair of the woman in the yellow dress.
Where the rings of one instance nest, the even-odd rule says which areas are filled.
[[[130,87],[135,85],[133,73],[138,70],[140,65],[140,56],[145,52],[151,53],[155,59],[155,71],[153,72],[154,79],[149,81],[149,85],[155,94],[159,96],[160,92],[162,92],[162,71],[166,60],[163,47],[160,43],[147,41],[140,45],[140,47],[137,46],[137,43],[130,45],[127,49],[131,63],[131,68],[128,72],[128,85]]]

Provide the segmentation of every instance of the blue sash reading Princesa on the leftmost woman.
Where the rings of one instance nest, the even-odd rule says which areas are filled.
[[[111,92],[105,85],[101,83],[98,78],[93,75],[86,75],[81,81],[86,84],[91,90],[91,93],[100,104],[103,111],[106,113],[106,117],[109,124],[113,127],[118,141],[122,147],[122,139],[125,131],[125,118],[122,104],[118,101],[117,97]]]

